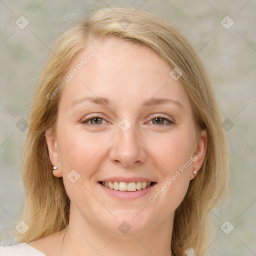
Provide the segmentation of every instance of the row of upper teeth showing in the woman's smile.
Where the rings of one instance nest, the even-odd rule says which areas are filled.
[[[117,182],[117,181],[102,181],[102,185],[109,187],[110,189],[120,191],[135,191],[136,189],[144,189],[150,185],[150,182],[138,181],[138,182]]]

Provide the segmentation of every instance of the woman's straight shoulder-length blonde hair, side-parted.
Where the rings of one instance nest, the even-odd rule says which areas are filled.
[[[132,6],[103,7],[78,16],[51,48],[32,99],[23,149],[25,203],[16,224],[23,220],[29,229],[24,234],[14,229],[13,237],[29,242],[68,225],[70,201],[62,178],[52,175],[45,142],[45,130],[55,127],[60,93],[50,100],[47,95],[61,83],[81,50],[109,36],[145,45],[170,70],[178,67],[183,73],[179,81],[191,101],[196,127],[206,128],[208,142],[203,165],[175,210],[170,246],[175,255],[185,255],[188,248],[195,255],[212,255],[211,210],[229,194],[229,150],[221,111],[204,65],[187,39],[167,19]]]

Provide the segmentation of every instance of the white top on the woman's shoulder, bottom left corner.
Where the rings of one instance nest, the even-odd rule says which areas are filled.
[[[0,256],[45,256],[41,251],[26,242],[0,246]]]

